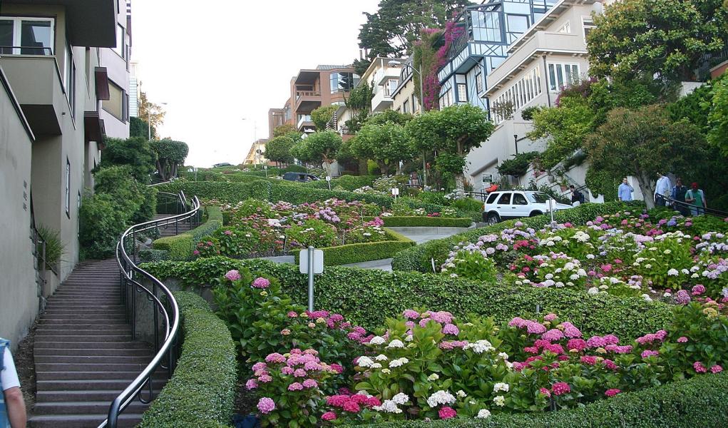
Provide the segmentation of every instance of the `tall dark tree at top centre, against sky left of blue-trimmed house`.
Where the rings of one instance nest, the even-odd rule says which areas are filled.
[[[359,31],[359,47],[368,49],[369,59],[377,56],[402,57],[411,52],[423,28],[443,28],[453,12],[467,0],[381,0],[376,13],[367,17]]]

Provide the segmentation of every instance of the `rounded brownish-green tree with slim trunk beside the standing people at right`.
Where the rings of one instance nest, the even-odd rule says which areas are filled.
[[[673,121],[664,106],[614,108],[606,122],[585,140],[596,170],[633,175],[654,207],[657,173],[689,174],[705,156],[705,138],[687,119]]]

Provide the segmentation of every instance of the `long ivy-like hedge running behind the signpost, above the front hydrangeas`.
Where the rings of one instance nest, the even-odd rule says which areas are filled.
[[[183,286],[213,284],[230,269],[241,267],[279,278],[293,301],[306,304],[307,277],[293,264],[212,257],[189,263],[162,261],[143,265],[159,279],[177,278]],[[582,290],[564,288],[513,288],[444,275],[342,266],[327,267],[317,275],[315,298],[317,309],[336,310],[368,329],[379,328],[387,317],[412,307],[445,310],[460,317],[474,313],[504,322],[516,316],[530,317],[538,305],[542,312],[568,318],[587,336],[614,333],[631,341],[664,328],[672,319],[669,305],[642,298],[590,296]]]

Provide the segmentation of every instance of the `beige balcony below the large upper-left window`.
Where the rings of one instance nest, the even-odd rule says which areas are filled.
[[[55,57],[10,55],[0,64],[33,133],[60,135],[61,116],[71,108]]]

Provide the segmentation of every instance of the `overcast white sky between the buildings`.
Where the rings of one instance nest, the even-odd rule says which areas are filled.
[[[268,136],[268,109],[283,106],[299,69],[358,58],[362,12],[378,3],[132,0],[141,89],[167,103],[159,134],[189,144],[187,165],[242,162],[254,135]]]

